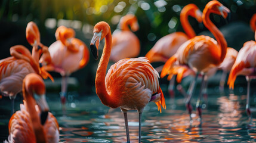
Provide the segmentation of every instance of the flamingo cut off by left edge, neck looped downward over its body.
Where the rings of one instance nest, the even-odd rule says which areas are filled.
[[[11,114],[13,114],[14,99],[18,92],[21,92],[24,77],[29,73],[40,74],[40,69],[24,46],[12,46],[10,54],[11,57],[0,60],[0,94],[10,97]]]

